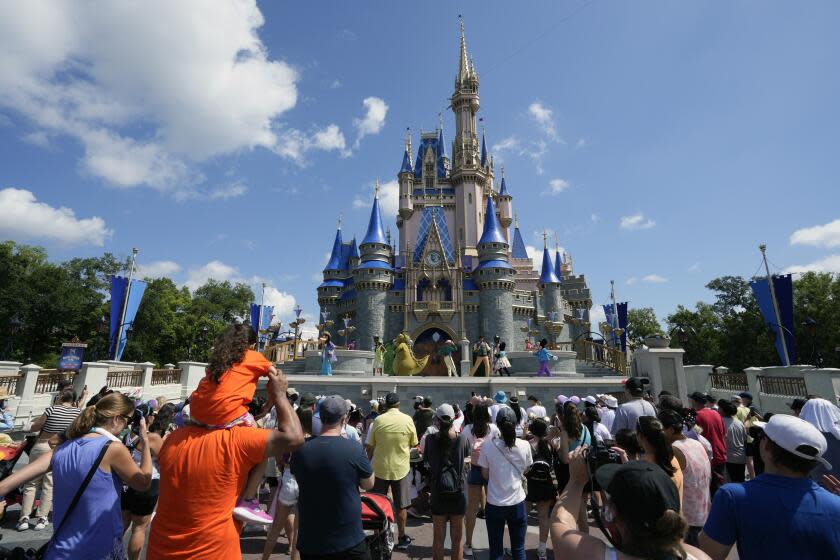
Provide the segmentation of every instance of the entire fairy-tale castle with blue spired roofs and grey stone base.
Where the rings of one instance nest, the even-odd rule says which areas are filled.
[[[539,271],[525,250],[515,189],[504,168],[497,178],[483,132],[479,141],[479,77],[463,23],[450,103],[450,145],[442,126],[421,132],[416,152],[406,139],[396,245],[383,226],[378,185],[361,243],[345,241],[339,223],[318,286],[322,321],[331,325],[324,328],[336,344],[354,340],[360,350],[405,332],[418,357],[446,340],[466,350],[480,336],[490,343],[498,336],[509,351],[541,338],[563,347],[589,331],[589,288],[556,242],[552,255],[544,236]],[[427,369],[434,367],[442,366]]]

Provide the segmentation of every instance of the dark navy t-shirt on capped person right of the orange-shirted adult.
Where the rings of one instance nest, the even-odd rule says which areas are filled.
[[[311,438],[292,454],[291,469],[300,487],[298,550],[335,554],[362,542],[359,479],[373,473],[362,446],[337,436]]]

